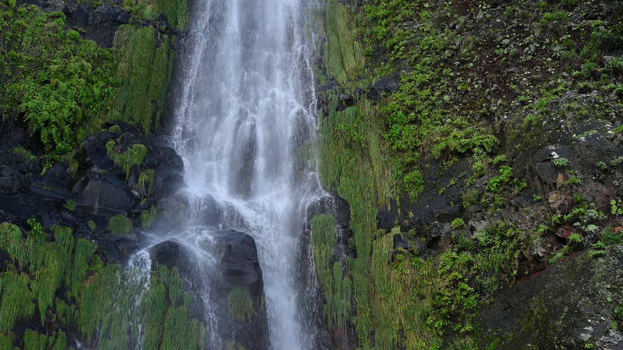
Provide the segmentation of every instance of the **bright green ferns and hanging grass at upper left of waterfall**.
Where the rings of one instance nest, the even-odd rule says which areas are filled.
[[[186,0],[130,1],[135,14],[155,19],[163,13],[182,30]],[[121,26],[112,49],[65,28],[65,15],[36,6],[0,3],[0,115],[24,122],[50,161],[67,156],[108,120],[122,119],[157,130],[175,58],[174,37],[155,27]],[[117,129],[112,129],[115,132]],[[77,168],[77,166],[74,166]]]

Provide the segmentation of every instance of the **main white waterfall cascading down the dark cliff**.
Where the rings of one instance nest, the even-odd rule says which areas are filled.
[[[280,350],[309,343],[297,305],[296,243],[307,204],[321,192],[309,156],[315,103],[300,1],[197,4],[173,135],[189,215],[201,216],[212,196],[242,216],[222,228],[255,239],[270,343]]]

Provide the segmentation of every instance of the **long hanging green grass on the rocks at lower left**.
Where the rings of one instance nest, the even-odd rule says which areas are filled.
[[[12,349],[14,327],[36,321],[32,319],[36,315],[42,323],[49,315],[62,326],[75,324],[94,348],[130,350],[128,324],[142,322],[146,348],[203,349],[204,327],[199,320],[188,319],[190,295],[182,290],[176,268],[169,271],[159,266],[137,305],[135,296],[144,286],[140,278],[133,277],[140,276],[139,271],[123,272],[118,265],[96,269],[90,263],[98,262],[92,242],[74,239],[70,229],[60,226],[52,228],[54,241],[50,241],[36,220],[29,220],[29,225],[31,230],[23,237],[16,225],[0,224],[0,248],[16,264],[0,274],[2,349]],[[17,266],[28,273],[17,273]],[[87,273],[89,269],[93,273]],[[130,329],[134,334],[137,331]],[[65,350],[67,338],[63,330],[46,336],[27,329],[24,349]]]

